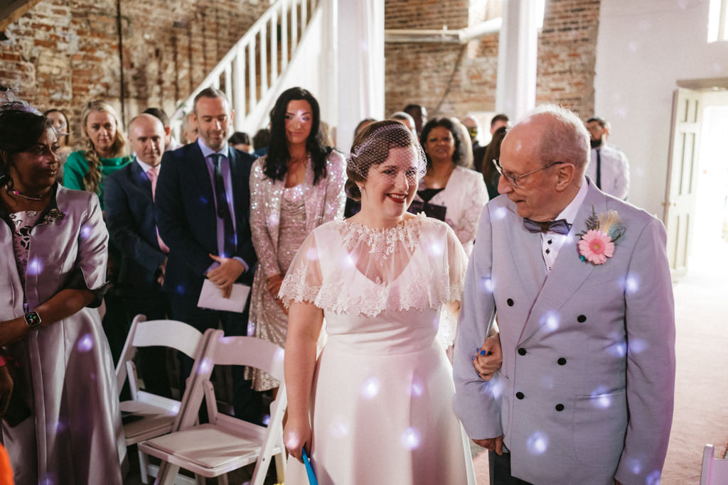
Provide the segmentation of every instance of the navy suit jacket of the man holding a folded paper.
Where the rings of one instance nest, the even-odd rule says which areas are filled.
[[[253,283],[256,252],[250,239],[250,167],[256,157],[230,148],[230,178],[237,251],[248,264],[239,282]],[[197,143],[190,143],[162,157],[156,193],[157,227],[170,247],[165,270],[165,292],[197,298],[205,272],[218,254],[215,193],[205,158]]]

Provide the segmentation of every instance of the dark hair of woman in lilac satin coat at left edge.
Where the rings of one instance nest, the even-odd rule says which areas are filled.
[[[45,116],[28,111],[0,112],[0,183],[12,190],[12,178],[9,168],[13,156],[30,150],[38,143],[45,130],[52,127],[52,122]]]

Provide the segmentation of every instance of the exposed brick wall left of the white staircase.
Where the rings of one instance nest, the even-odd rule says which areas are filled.
[[[264,0],[121,2],[124,113],[172,113],[266,9]],[[85,103],[121,108],[116,0],[43,0],[5,31],[0,85],[41,109],[60,108],[80,134]],[[80,137],[76,136],[80,141]]]

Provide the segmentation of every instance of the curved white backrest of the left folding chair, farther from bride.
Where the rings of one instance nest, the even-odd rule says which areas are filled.
[[[146,321],[146,316],[137,315],[132,321],[132,326],[127,335],[127,341],[124,342],[122,355],[116,364],[116,385],[121,392],[124,387],[124,381],[127,380],[131,362],[138,347],[149,347],[157,345],[161,347],[169,347],[185,353],[192,359],[197,359],[202,355],[205,346],[205,340],[202,333],[181,321],[175,320],[150,320]],[[134,394],[132,390],[132,395]]]

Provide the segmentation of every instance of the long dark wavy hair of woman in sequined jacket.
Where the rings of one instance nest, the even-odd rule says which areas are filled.
[[[285,136],[285,112],[288,103],[295,100],[306,100],[311,105],[311,133],[306,138],[306,151],[311,155],[314,168],[314,185],[326,177],[326,157],[333,148],[325,144],[320,125],[320,110],[316,98],[302,87],[286,89],[275,102],[271,110],[271,129],[268,140],[268,156],[266,156],[263,173],[272,180],[285,180],[288,172],[288,140]]]

